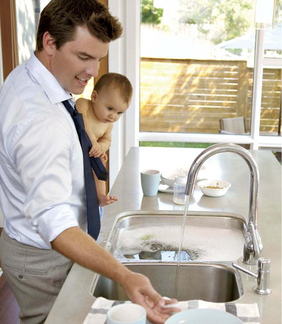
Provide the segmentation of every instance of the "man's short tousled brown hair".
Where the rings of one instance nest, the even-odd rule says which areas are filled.
[[[123,27],[118,18],[98,0],[51,0],[40,14],[36,51],[43,49],[43,35],[46,31],[55,39],[60,49],[74,38],[76,26],[86,26],[89,32],[104,43],[119,38]]]

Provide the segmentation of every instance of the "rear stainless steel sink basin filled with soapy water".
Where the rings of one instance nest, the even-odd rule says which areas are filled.
[[[176,262],[182,222],[182,211],[122,213],[106,248],[121,262]],[[245,232],[246,220],[239,214],[188,212],[181,260],[236,261],[243,255]]]

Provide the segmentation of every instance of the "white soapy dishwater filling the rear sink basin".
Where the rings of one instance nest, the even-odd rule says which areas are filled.
[[[114,255],[121,261],[177,261],[181,226],[138,225],[122,228]],[[243,253],[238,229],[186,225],[181,261],[234,261]]]

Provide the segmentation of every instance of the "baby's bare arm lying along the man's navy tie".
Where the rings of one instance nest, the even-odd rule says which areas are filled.
[[[91,143],[92,143],[92,147],[89,151],[89,154],[90,154],[90,156],[99,157],[103,152],[102,152],[101,145],[97,142],[97,138],[93,133],[90,121],[87,116],[87,112],[89,109],[89,100],[85,99],[85,98],[79,98],[75,102],[75,106],[76,106],[77,110],[80,113],[82,113],[85,130],[86,130],[86,132],[91,140]]]

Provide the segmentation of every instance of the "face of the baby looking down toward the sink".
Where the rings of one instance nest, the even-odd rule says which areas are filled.
[[[130,105],[123,101],[117,88],[107,88],[99,94],[94,90],[91,101],[96,117],[104,123],[119,120]]]

